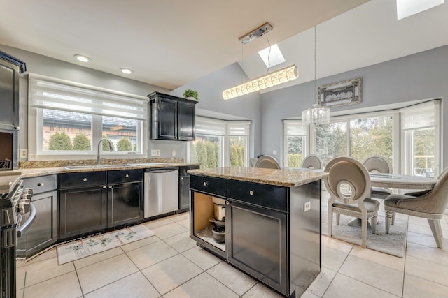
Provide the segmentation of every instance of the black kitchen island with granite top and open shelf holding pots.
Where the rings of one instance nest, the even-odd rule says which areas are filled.
[[[281,295],[300,297],[321,271],[321,179],[328,174],[255,167],[189,172],[190,237],[197,245]]]

